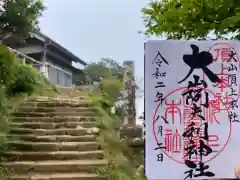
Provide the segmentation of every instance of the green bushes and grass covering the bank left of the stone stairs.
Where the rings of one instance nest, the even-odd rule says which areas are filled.
[[[52,88],[52,85],[43,75],[30,65],[20,64],[14,53],[0,45],[0,161],[4,160],[4,152],[12,150],[12,147],[7,144],[8,113],[11,106],[9,102],[14,99],[12,104],[16,105],[26,97],[16,98],[20,97],[19,95],[36,93],[36,90],[43,91],[46,87]],[[1,180],[7,179],[9,173],[11,173],[9,169],[0,167]]]

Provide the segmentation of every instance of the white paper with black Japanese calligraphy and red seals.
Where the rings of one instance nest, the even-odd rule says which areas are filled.
[[[193,52],[190,46],[191,44],[198,46],[199,51],[195,49],[195,52]],[[202,53],[203,51],[205,52]],[[159,53],[161,53],[162,57]],[[193,53],[196,55],[196,58],[192,59],[192,61],[195,61],[195,64],[202,62],[209,64],[206,58],[212,55],[213,62],[206,67],[221,80],[220,83],[217,81],[215,81],[216,83],[212,82],[201,68],[194,69],[192,74],[184,82],[178,83],[186,77],[190,70],[190,66],[183,60],[183,55],[192,55]],[[182,93],[187,91],[188,81],[194,82],[193,75],[199,76],[200,84],[201,80],[205,80],[208,86],[204,88],[201,84],[194,89],[203,88],[203,91],[200,93],[202,96],[201,102],[198,101],[195,102],[195,104],[201,107],[202,112],[198,114],[204,118],[204,120],[201,120],[201,118],[196,115],[194,117],[194,123],[195,127],[202,127],[202,135],[204,134],[203,132],[208,132],[209,140],[207,141],[206,139],[198,137],[196,133],[194,145],[198,147],[195,148],[195,150],[198,151],[198,155],[192,155],[191,158],[197,167],[199,167],[198,164],[201,161],[204,165],[208,165],[209,168],[204,170],[204,172],[210,171],[214,173],[215,176],[197,177],[196,175],[199,174],[200,171],[193,169],[193,177],[187,179],[235,178],[234,167],[240,163],[240,122],[237,122],[238,120],[240,121],[240,117],[234,117],[235,115],[240,116],[240,105],[238,101],[240,80],[239,53],[239,41],[151,40],[146,42],[145,172],[148,179],[182,180],[188,175],[185,174],[185,172],[191,170],[184,163],[185,160],[183,157],[187,154],[187,150],[184,152],[184,146],[187,147],[190,140],[187,137],[184,138],[183,133],[186,131],[187,123],[190,125],[190,122],[193,121],[191,119],[194,115],[191,114],[193,112],[191,108],[194,102],[190,98],[187,105],[187,95],[183,96]],[[156,58],[157,54],[158,57]],[[190,56],[185,57],[189,58]],[[203,59],[202,57],[206,58]],[[196,60],[198,61],[196,62]],[[188,60],[190,63],[192,61]],[[158,64],[156,62],[158,62]],[[161,64],[159,65],[160,62]],[[159,72],[161,72],[161,74],[158,74],[158,79],[153,75],[156,73],[156,68],[159,68]],[[206,68],[203,69],[207,71]],[[162,84],[159,85],[165,85],[165,87],[155,88],[158,82],[162,82]],[[157,92],[163,93],[164,100],[162,105],[160,102],[155,102]],[[207,95],[205,92],[208,93],[208,100],[206,100]],[[204,104],[204,102],[206,105],[206,101],[208,101],[208,108],[201,105]],[[159,119],[156,120],[158,116]],[[174,124],[172,124],[173,121]],[[204,131],[205,125],[198,125],[198,123],[204,124],[206,122],[208,123],[208,129]],[[166,135],[167,130],[169,130],[168,135]],[[197,145],[197,142],[201,139],[205,144],[208,143],[206,145],[213,151],[208,156],[203,156],[202,160],[199,155],[199,146]],[[154,150],[158,147],[157,142],[162,142],[162,145],[167,149]],[[163,154],[163,162],[157,161],[157,155],[160,153]]]

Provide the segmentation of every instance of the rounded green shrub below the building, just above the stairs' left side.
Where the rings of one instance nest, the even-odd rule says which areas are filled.
[[[43,80],[43,79],[42,79]],[[8,94],[32,94],[36,88],[42,87],[39,72],[31,65],[17,63],[14,69],[14,79],[8,86]]]

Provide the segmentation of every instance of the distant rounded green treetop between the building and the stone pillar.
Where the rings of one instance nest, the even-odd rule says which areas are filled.
[[[116,77],[122,79],[122,67],[112,59],[103,58],[97,63],[91,63],[86,66],[84,73],[90,79],[90,82],[99,81],[99,77]]]

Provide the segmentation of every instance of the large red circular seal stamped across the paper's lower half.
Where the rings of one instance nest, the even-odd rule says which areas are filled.
[[[187,90],[186,87],[178,88],[170,92],[160,103],[154,112],[153,117],[153,135],[156,142],[156,147],[159,144],[165,146],[166,149],[162,151],[172,160],[184,164],[187,159],[186,147],[189,140],[182,135],[190,122],[194,122],[194,127],[199,127],[200,133],[204,134],[201,117],[196,115],[192,116],[193,110],[191,105],[183,97],[182,93]],[[212,149],[212,153],[208,156],[203,156],[202,162],[209,162],[217,157],[227,146],[232,131],[232,124],[229,120],[229,112],[221,99],[209,89],[204,89],[204,92],[209,94],[208,107],[201,106],[201,116],[204,121],[208,123],[208,137],[206,145]],[[204,104],[204,98],[201,98],[199,105]],[[194,137],[194,142],[199,142],[199,136]],[[196,144],[196,151],[199,144]],[[192,156],[192,161],[199,162],[199,157]]]

